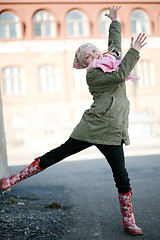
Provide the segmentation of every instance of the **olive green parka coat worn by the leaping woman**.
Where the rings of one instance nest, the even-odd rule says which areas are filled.
[[[121,52],[121,24],[113,21],[109,29],[109,48]],[[100,68],[91,68],[86,80],[93,96],[93,104],[86,110],[74,128],[71,138],[93,144],[129,144],[128,115],[129,101],[126,95],[125,79],[139,60],[139,52],[131,48],[118,71],[104,73]]]

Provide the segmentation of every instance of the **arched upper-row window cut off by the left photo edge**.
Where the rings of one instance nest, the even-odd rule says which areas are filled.
[[[12,12],[0,14],[0,38],[20,38],[19,18]]]

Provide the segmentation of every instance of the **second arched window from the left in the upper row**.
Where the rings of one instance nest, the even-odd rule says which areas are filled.
[[[33,27],[35,37],[55,37],[55,19],[47,11],[38,11],[33,16]]]

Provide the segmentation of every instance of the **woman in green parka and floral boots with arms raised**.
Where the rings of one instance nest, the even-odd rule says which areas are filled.
[[[106,56],[107,63],[105,61],[105,64],[102,64],[103,55],[91,43],[83,44],[75,53],[73,67],[77,69],[88,67],[86,79],[94,101],[90,109],[84,112],[79,124],[64,144],[36,158],[19,173],[2,178],[0,189],[5,191],[19,181],[43,171],[64,158],[95,145],[111,166],[118,189],[125,231],[131,235],[140,235],[142,230],[135,223],[131,204],[132,188],[125,168],[123,143],[129,144],[129,101],[125,80],[139,60],[139,50],[145,45],[146,37],[140,34],[136,41],[131,38],[131,48],[123,60],[120,60],[121,24],[117,21],[119,8],[113,6],[109,8],[109,14],[106,14],[112,20],[108,42],[111,52],[108,53],[108,57]],[[110,58],[114,64],[112,63],[111,69],[107,70],[110,68],[107,65]]]

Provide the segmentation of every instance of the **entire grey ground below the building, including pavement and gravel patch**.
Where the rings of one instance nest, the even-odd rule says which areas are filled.
[[[126,164],[142,236],[124,233],[111,170],[98,158],[63,161],[12,187],[0,205],[0,239],[159,240],[160,155],[127,157]],[[52,202],[60,208],[46,208]]]

